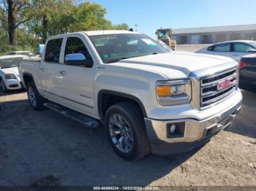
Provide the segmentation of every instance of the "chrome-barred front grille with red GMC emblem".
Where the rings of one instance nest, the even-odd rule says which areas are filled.
[[[224,71],[200,79],[201,108],[221,101],[236,90],[238,74],[236,69]]]

